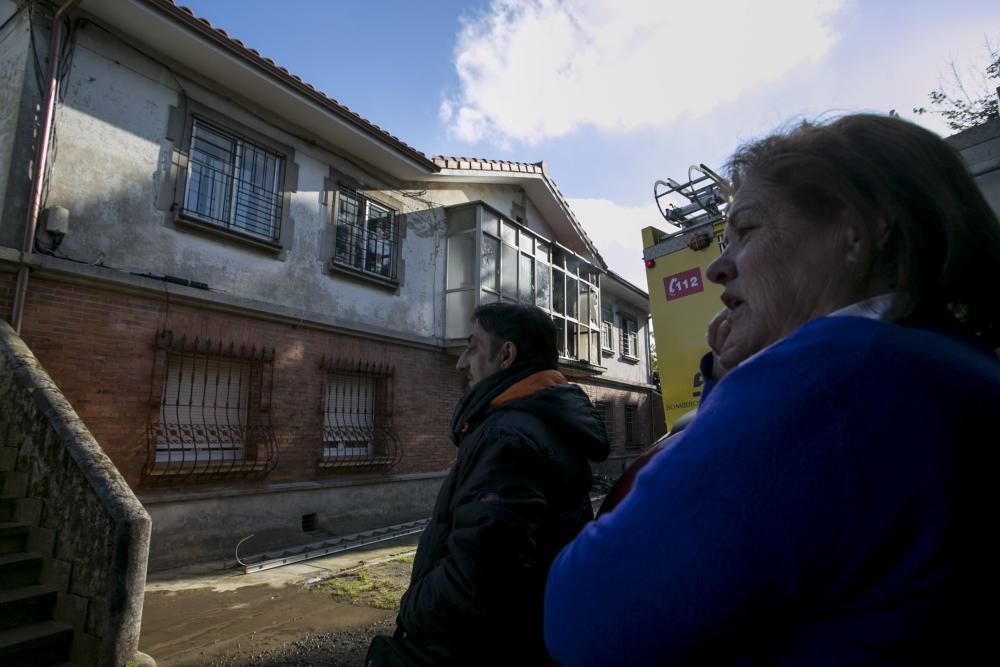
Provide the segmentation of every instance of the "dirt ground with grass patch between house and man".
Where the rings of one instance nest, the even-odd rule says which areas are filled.
[[[158,575],[139,649],[161,667],[361,665],[371,637],[392,632],[415,544],[249,575]]]

